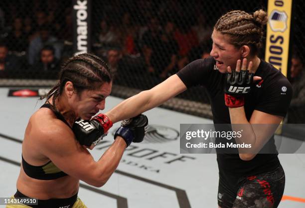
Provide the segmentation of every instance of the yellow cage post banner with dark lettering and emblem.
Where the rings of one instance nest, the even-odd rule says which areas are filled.
[[[269,0],[265,60],[287,76],[292,0]]]

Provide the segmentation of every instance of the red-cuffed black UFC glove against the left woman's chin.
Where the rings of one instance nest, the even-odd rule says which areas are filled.
[[[90,121],[77,119],[72,127],[76,139],[81,145],[96,146],[108,134],[112,121],[104,114],[93,117]]]

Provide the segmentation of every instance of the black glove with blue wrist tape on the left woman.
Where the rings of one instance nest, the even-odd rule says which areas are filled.
[[[148,129],[148,118],[140,114],[134,118],[123,120],[121,127],[116,131],[114,139],[120,136],[126,142],[127,147],[132,142],[142,142]]]

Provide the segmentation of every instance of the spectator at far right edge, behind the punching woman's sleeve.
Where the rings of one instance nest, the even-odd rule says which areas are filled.
[[[295,53],[291,59],[290,78],[293,97],[288,109],[288,122],[291,124],[305,123],[305,69],[304,63]]]

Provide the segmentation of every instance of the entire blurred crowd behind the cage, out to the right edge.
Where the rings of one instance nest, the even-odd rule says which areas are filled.
[[[108,62],[115,82],[151,88],[187,63],[209,56],[212,26],[234,6],[228,1],[211,10],[212,1],[204,6],[192,1],[93,0],[91,52]],[[251,3],[240,6],[253,8]],[[72,49],[72,0],[0,1],[0,77],[56,79]],[[294,51],[289,123],[305,123],[304,62]],[[179,96],[209,102],[202,89]]]

